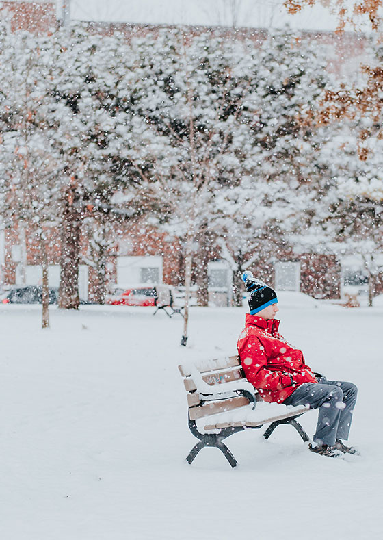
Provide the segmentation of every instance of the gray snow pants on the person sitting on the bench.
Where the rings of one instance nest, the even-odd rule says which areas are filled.
[[[352,383],[328,381],[326,377],[317,378],[317,381],[318,384],[304,383],[298,386],[283,403],[319,408],[317,430],[313,437],[316,443],[333,446],[336,439],[347,441],[358,389]]]

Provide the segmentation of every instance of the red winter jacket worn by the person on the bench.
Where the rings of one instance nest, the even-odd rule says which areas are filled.
[[[302,351],[278,334],[280,321],[246,314],[238,354],[246,378],[268,402],[282,403],[302,383],[317,383]]]

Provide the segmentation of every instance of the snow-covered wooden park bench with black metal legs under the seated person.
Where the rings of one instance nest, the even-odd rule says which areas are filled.
[[[270,424],[263,437],[268,439],[280,424],[293,426],[303,441],[308,435],[295,420],[309,409],[266,403],[247,381],[238,356],[179,365],[187,391],[189,429],[199,442],[186,458],[192,463],[205,446],[215,446],[232,467],[237,460],[222,442],[246,429]]]

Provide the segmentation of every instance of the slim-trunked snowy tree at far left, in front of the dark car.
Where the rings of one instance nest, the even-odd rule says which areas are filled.
[[[48,38],[1,32],[1,211],[25,242],[28,229],[38,242],[42,265],[42,326],[49,326],[48,250],[57,227],[62,161],[50,123],[52,65]],[[60,212],[58,212],[60,214]]]

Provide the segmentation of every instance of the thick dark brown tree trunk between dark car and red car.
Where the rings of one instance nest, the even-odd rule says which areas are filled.
[[[81,215],[73,202],[72,190],[68,190],[61,236],[59,307],[62,309],[78,309],[80,305],[79,240]]]

